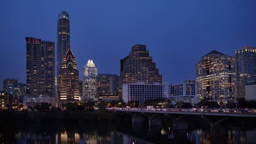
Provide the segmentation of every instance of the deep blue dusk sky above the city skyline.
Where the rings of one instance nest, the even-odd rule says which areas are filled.
[[[26,83],[25,37],[55,41],[57,16],[68,11],[71,49],[82,80],[92,59],[98,73],[118,74],[131,46],[146,44],[162,80],[195,80],[197,61],[217,50],[234,56],[256,46],[256,1],[0,1],[0,89]],[[56,49],[55,49],[56,52]]]

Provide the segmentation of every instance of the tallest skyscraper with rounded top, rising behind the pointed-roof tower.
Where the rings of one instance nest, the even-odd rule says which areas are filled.
[[[70,27],[67,11],[61,11],[57,22],[57,75],[59,75],[64,57],[70,49]]]

